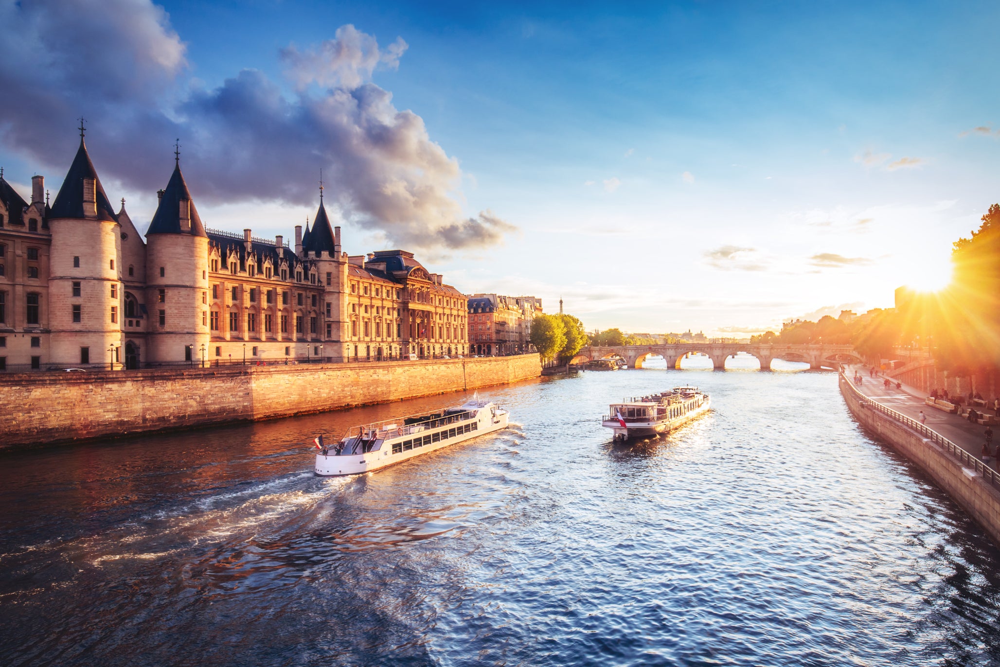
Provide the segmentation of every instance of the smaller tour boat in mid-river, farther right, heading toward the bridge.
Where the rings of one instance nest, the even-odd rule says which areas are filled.
[[[615,440],[660,435],[704,414],[709,405],[708,394],[697,387],[674,387],[612,404],[601,425],[614,431]]]

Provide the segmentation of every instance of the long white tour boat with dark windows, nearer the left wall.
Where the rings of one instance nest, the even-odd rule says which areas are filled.
[[[337,445],[316,438],[316,474],[357,475],[507,428],[508,412],[476,395],[464,405],[357,426]]]

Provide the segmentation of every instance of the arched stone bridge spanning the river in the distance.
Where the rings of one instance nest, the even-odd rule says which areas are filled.
[[[680,361],[692,352],[708,355],[716,370],[726,367],[726,359],[737,352],[757,357],[761,370],[770,370],[771,361],[799,361],[812,369],[836,369],[838,363],[861,363],[862,359],[850,345],[741,345],[740,343],[675,343],[672,345],[619,345],[597,346],[581,349],[570,363],[579,364],[594,359],[621,357],[629,368],[642,368],[651,354],[658,354],[667,361],[667,368],[680,368]]]

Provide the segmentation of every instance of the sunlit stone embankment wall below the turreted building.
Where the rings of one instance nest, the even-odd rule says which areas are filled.
[[[509,384],[537,354],[0,375],[0,448],[274,419]]]

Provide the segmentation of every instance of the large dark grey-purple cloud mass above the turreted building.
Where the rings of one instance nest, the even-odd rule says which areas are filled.
[[[353,26],[275,54],[284,82],[245,69],[221,85],[188,78],[186,46],[148,0],[0,4],[0,142],[58,175],[75,150],[75,118],[106,181],[154,192],[181,163],[199,203],[315,206],[323,168],[335,214],[413,249],[470,249],[514,229],[459,204],[458,161],[371,82],[406,50]],[[113,197],[114,198],[114,197]]]

